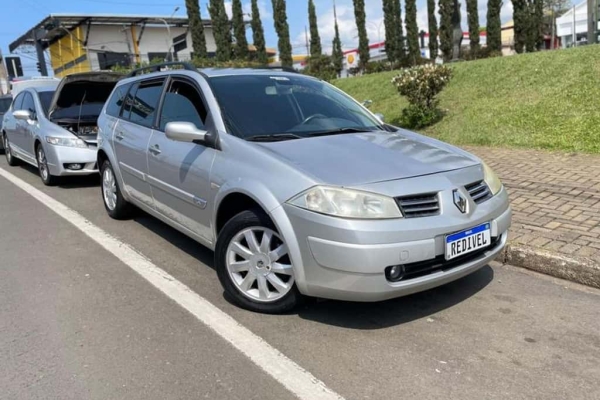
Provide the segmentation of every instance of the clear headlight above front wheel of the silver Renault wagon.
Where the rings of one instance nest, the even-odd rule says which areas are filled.
[[[292,198],[288,203],[306,210],[342,218],[402,218],[402,213],[394,199],[360,190],[316,186]]]

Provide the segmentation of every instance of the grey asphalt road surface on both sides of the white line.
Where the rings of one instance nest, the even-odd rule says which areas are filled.
[[[99,178],[44,187],[346,399],[598,399],[600,291],[494,264],[374,304],[283,316],[223,296],[212,253],[140,213],[113,221]],[[244,354],[0,177],[0,399],[288,399]]]

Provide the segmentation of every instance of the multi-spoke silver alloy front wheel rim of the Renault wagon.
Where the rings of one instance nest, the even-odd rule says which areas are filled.
[[[281,237],[265,227],[251,227],[233,237],[226,266],[236,288],[259,302],[274,302],[294,286],[292,263]]]

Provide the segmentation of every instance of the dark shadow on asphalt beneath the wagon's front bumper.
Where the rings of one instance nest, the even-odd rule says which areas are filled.
[[[378,303],[318,301],[298,310],[300,318],[349,329],[382,329],[402,325],[453,307],[477,294],[494,279],[494,270],[480,270],[449,284]]]

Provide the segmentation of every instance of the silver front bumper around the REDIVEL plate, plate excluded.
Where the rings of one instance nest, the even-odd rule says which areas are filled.
[[[442,215],[385,221],[349,221],[284,205],[293,232],[290,256],[299,290],[306,295],[349,301],[380,301],[431,289],[468,275],[492,261],[504,248],[511,224],[508,195],[503,188],[493,198],[472,207],[468,215],[445,210]],[[490,248],[459,262],[432,268],[399,282],[385,269],[443,261],[445,236],[484,222],[491,223]],[[287,233],[287,235],[286,235]],[[296,247],[297,244],[297,247]]]

